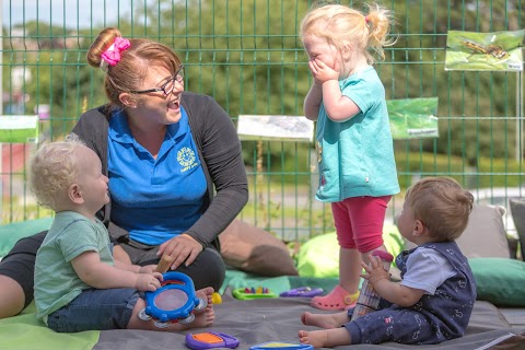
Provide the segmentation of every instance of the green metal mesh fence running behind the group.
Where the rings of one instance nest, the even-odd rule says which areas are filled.
[[[80,114],[105,103],[103,73],[85,54],[98,32],[149,37],[173,47],[187,68],[186,90],[213,96],[234,121],[240,115],[301,116],[311,84],[298,37],[312,4],[301,0],[3,0],[3,115],[38,114],[39,142],[58,140]],[[364,10],[362,1],[341,1]],[[415,179],[450,175],[479,201],[508,206],[522,197],[522,72],[446,71],[447,32],[518,31],[521,0],[383,1],[396,25],[376,69],[387,98],[438,97],[439,137],[395,140],[401,194],[387,223],[400,212]],[[31,143],[3,143],[2,223],[48,217],[25,186]],[[243,141],[250,198],[244,221],[283,241],[332,231],[329,206],[314,199],[313,145]],[[510,215],[505,225],[513,231]]]

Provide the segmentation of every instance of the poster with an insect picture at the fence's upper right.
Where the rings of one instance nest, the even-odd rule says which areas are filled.
[[[445,70],[522,71],[524,34],[448,31]]]

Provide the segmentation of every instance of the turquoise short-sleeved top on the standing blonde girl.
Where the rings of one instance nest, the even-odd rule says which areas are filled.
[[[316,198],[337,202],[350,197],[399,192],[385,89],[370,66],[339,82],[342,95],[361,109],[337,122],[324,104],[317,118],[319,188]]]

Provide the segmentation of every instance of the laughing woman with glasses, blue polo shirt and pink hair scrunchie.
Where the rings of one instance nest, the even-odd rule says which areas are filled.
[[[115,258],[150,265],[168,255],[196,289],[218,290],[225,275],[218,236],[248,198],[232,120],[211,97],[184,92],[180,59],[163,44],[128,40],[109,27],[88,62],[105,72],[109,103],[83,114],[72,132],[109,178],[112,200],[98,217],[118,244]],[[44,235],[21,240],[0,262],[0,317],[33,300]]]

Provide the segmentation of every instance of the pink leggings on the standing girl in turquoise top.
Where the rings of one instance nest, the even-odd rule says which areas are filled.
[[[383,245],[383,222],[392,196],[351,197],[331,203],[339,246],[360,253]]]

